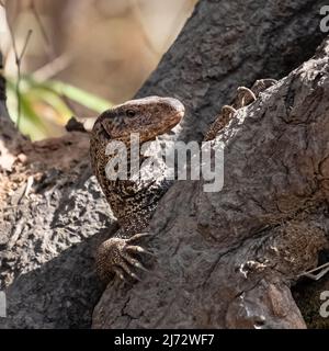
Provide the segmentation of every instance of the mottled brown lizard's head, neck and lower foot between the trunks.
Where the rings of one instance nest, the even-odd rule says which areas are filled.
[[[123,141],[129,155],[132,133],[139,134],[140,145],[171,131],[183,117],[183,104],[172,98],[149,97],[127,101],[102,113],[91,132],[90,154],[93,172],[120,224],[113,238],[104,241],[97,252],[97,270],[107,282],[115,274],[122,280],[139,280],[134,270],[145,270],[138,254],[150,253],[136,245],[144,233],[161,196],[170,186],[164,177],[150,180],[109,180],[105,167],[111,156],[105,149],[111,140]],[[140,162],[143,158],[140,158]],[[129,157],[128,157],[129,167]],[[129,174],[129,172],[128,172]]]

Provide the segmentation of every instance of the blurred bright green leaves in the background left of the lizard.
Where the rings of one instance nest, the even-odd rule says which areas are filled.
[[[10,115],[13,121],[16,121],[16,78],[7,77],[7,94]],[[64,98],[72,100],[98,114],[112,106],[111,102],[68,83],[57,80],[38,81],[32,75],[24,75],[20,81],[20,129],[24,134],[29,134],[34,140],[53,136],[55,129],[58,133],[58,126],[63,126],[73,114]],[[53,109],[54,121],[45,118],[41,110],[43,105]]]

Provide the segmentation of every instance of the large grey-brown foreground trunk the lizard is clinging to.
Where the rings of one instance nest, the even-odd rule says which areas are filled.
[[[220,132],[220,192],[172,186],[150,225],[155,273],[109,284],[95,328],[305,327],[290,287],[329,242],[328,54],[329,39]]]

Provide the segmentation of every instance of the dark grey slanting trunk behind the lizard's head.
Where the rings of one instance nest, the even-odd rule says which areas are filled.
[[[201,140],[237,87],[283,78],[314,55],[325,2],[200,1],[138,97],[180,99],[186,106],[180,138]]]

